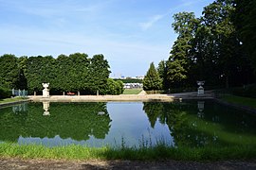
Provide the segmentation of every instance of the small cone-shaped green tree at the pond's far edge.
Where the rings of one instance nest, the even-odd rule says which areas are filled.
[[[145,91],[160,90],[162,88],[161,78],[158,75],[155,65],[152,62],[150,68],[143,79],[143,89]]]

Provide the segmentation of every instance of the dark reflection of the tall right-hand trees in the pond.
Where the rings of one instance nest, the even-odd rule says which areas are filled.
[[[197,103],[144,103],[152,127],[167,124],[176,146],[256,145],[255,117],[209,103],[198,117]]]

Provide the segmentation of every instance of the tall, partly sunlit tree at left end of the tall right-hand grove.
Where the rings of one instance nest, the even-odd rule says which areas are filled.
[[[188,77],[191,68],[189,52],[192,49],[191,41],[194,37],[194,27],[196,25],[198,25],[198,20],[192,12],[174,14],[174,24],[172,26],[175,33],[178,33],[178,37],[170,52],[171,56],[166,62],[166,79],[169,86],[184,86],[184,80]]]

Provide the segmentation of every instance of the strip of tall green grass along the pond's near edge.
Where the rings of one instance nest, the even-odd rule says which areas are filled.
[[[256,148],[248,146],[223,148],[174,148],[163,144],[150,148],[91,148],[82,145],[67,145],[49,148],[43,145],[2,143],[0,144],[0,157],[54,160],[250,160],[256,158]]]

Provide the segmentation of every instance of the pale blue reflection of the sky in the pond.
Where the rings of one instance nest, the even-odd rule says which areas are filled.
[[[66,144],[85,144],[89,146],[112,145],[120,146],[122,140],[125,145],[139,146],[142,141],[154,145],[156,140],[174,143],[170,134],[169,127],[162,125],[158,121],[155,122],[155,127],[152,128],[148,120],[147,114],[143,110],[141,102],[109,102],[107,110],[110,116],[111,127],[105,139],[96,139],[90,136],[87,141],[76,141],[71,138],[62,139],[59,135],[54,138],[35,138],[22,136],[18,139],[18,144],[44,144],[47,146],[66,145]]]

